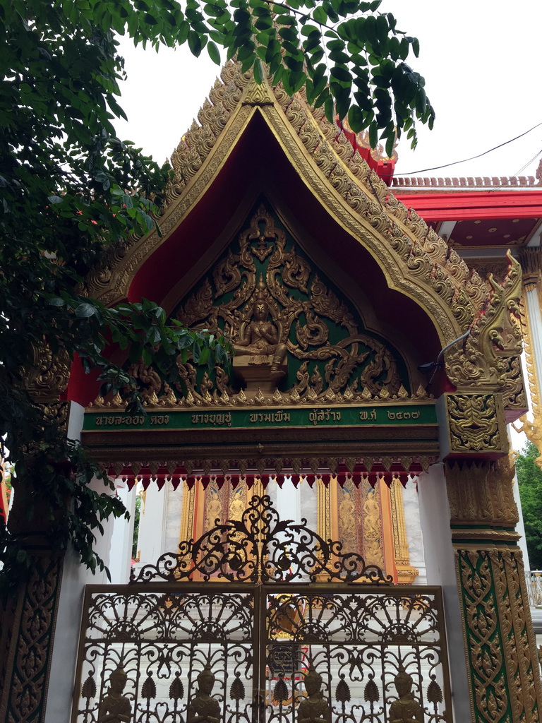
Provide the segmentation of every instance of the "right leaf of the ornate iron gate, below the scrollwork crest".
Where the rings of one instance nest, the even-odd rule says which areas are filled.
[[[265,590],[267,722],[452,720],[439,588],[280,587]]]

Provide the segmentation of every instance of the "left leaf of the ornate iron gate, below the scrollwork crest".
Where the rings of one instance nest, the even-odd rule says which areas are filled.
[[[259,590],[225,587],[88,586],[72,721],[251,720]],[[207,685],[214,715],[202,718]]]

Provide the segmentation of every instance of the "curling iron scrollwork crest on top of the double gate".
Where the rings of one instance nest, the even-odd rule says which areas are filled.
[[[241,519],[216,524],[178,549],[162,555],[156,565],[145,565],[132,582],[191,580],[196,575],[205,581],[247,583],[393,581],[356,552],[343,552],[341,542],[324,540],[306,520],[281,520],[268,495],[254,495]]]

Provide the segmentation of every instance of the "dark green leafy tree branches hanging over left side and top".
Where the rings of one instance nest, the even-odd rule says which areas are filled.
[[[423,78],[406,64],[418,41],[379,4],[0,0],[0,438],[30,490],[28,514],[47,500],[56,543],[71,539],[90,568],[103,565],[93,530],[124,508],[90,491],[92,462],[35,404],[25,377],[44,348],[78,354],[103,393],[120,393],[134,409],[137,382],[110,360],[111,343],[170,381],[179,356],[214,364],[228,352],[223,339],[166,325],[152,301],[106,308],[87,294],[85,276],[108,249],[158,228],[171,172],[116,137],[124,65],[115,33],[144,46],[188,43],[196,56],[207,48],[217,63],[224,48],[258,82],[269,72],[288,93],[304,85],[328,117],[348,114],[353,130],[368,128],[373,145],[380,137],[390,152],[396,132],[415,142],[416,119],[431,124],[434,114]],[[4,573],[25,564],[5,529],[2,545]]]

